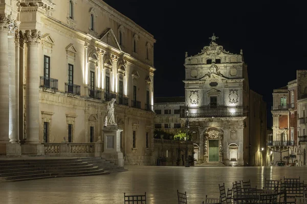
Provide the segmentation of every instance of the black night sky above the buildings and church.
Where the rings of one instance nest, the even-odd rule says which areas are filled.
[[[272,126],[273,89],[306,69],[304,4],[299,1],[105,0],[157,40],[154,45],[155,96],[184,96],[184,59],[210,43],[230,53],[243,49],[250,88],[268,104]],[[254,2],[254,3],[250,3]]]

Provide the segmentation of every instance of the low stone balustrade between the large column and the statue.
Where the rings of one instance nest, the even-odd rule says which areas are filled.
[[[100,157],[103,142],[61,142],[43,143],[45,155],[58,157]]]

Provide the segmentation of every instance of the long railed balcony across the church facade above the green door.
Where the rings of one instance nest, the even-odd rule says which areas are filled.
[[[186,106],[180,107],[180,117],[186,117]],[[247,115],[247,108],[243,106],[201,106],[189,107],[189,118],[206,117],[241,117]]]

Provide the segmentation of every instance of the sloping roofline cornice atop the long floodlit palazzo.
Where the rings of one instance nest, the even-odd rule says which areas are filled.
[[[99,0],[87,0],[87,1],[98,5],[104,12],[106,12],[109,15],[109,17],[111,17],[113,20],[121,24],[124,24],[125,27],[129,28],[131,31],[143,35],[147,40],[153,43],[156,42],[153,36],[150,33],[148,33],[146,30],[144,30],[142,27],[140,27],[140,25],[136,24],[133,20],[122,15],[120,12],[116,11],[114,8],[110,7],[104,2]]]

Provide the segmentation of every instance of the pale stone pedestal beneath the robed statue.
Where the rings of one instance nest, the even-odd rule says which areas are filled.
[[[101,157],[116,163],[119,166],[124,166],[123,153],[120,151],[120,133],[123,130],[118,129],[117,125],[107,125],[103,127],[103,153]]]

